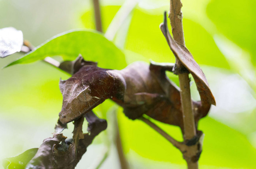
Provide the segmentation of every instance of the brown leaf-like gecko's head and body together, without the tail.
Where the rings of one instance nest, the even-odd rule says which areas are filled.
[[[71,122],[110,98],[124,108],[130,119],[146,114],[183,130],[180,92],[166,77],[165,70],[168,69],[144,62],[134,62],[123,70],[83,66],[68,80],[60,81],[60,121]],[[200,103],[193,102],[196,123],[210,109],[210,104]]]

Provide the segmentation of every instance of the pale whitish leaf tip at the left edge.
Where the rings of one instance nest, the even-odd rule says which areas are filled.
[[[13,27],[0,29],[0,57],[4,58],[8,55],[19,52],[23,45],[22,31]]]

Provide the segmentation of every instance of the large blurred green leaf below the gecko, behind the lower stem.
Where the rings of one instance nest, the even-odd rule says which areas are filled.
[[[151,160],[183,164],[182,154],[155,130],[140,120],[129,120],[121,111],[118,114],[121,139],[124,150],[130,150]],[[180,129],[164,123],[153,121],[178,141],[182,141]],[[139,126],[139,127],[138,127]],[[256,165],[256,150],[246,136],[212,118],[199,122],[199,130],[205,134],[200,165],[212,165],[230,168],[250,168]],[[134,139],[136,138],[136,139]],[[252,159],[252,160],[248,160]]]

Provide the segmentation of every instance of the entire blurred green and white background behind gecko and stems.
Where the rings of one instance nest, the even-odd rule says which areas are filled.
[[[124,2],[101,0],[100,3],[103,30],[106,31]],[[217,102],[209,115],[199,122],[199,129],[205,134],[200,168],[254,169],[256,1],[182,0],[182,4],[186,46],[206,74]],[[12,26],[22,30],[24,39],[37,46],[67,30],[94,29],[92,6],[89,0],[0,0],[0,28]],[[125,53],[127,64],[136,60],[149,62],[149,59],[174,62],[159,29],[163,11],[169,11],[168,0],[140,0],[121,26],[114,43]],[[1,59],[0,67],[20,55]],[[45,138],[52,136],[62,105],[59,79],[69,76],[39,61],[2,69],[0,77],[1,162],[5,157],[39,147]],[[171,78],[178,83],[176,76]],[[195,84],[192,85],[192,97],[199,99]],[[95,109],[99,116],[107,117],[109,128],[89,146],[78,169],[93,166],[108,145],[106,142],[111,142],[106,135],[111,136],[113,132],[112,111],[108,111],[112,105],[111,101],[106,101]],[[125,156],[132,169],[186,168],[179,150],[143,122],[126,118],[120,108],[118,123]],[[182,140],[177,127],[155,123]],[[72,137],[71,132],[72,124],[69,124],[64,135]],[[118,169],[116,149],[112,144],[110,147],[102,168]]]

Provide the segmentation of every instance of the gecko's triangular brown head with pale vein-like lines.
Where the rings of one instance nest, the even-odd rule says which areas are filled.
[[[62,123],[79,118],[113,95],[114,77],[107,69],[84,66],[68,80],[60,80]]]

